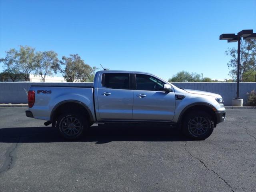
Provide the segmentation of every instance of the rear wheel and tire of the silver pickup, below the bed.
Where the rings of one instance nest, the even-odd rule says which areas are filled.
[[[61,114],[57,121],[57,127],[63,138],[76,140],[88,129],[88,122],[80,114]]]

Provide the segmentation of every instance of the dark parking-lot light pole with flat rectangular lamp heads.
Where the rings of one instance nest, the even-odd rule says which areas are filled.
[[[236,99],[240,99],[239,97],[239,82],[240,82],[240,44],[241,37],[244,40],[252,40],[256,39],[256,33],[253,33],[252,29],[242,30],[236,34],[234,33],[226,33],[220,35],[220,40],[228,40],[228,43],[238,42],[237,48],[237,79],[236,79]]]

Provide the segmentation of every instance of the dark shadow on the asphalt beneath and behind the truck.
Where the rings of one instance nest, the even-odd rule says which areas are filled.
[[[112,141],[188,141],[178,128],[163,124],[94,124],[75,142],[96,142],[104,144]],[[60,137],[58,130],[47,127],[1,128],[0,142],[44,143],[72,142]]]

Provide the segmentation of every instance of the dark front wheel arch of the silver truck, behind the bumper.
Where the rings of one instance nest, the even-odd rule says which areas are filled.
[[[216,127],[217,117],[216,117],[216,113],[214,111],[214,110],[216,110],[216,108],[213,105],[204,103],[204,102],[193,103],[193,104],[186,106],[180,113],[180,116],[178,118],[178,123],[182,124],[182,120],[184,119],[186,114],[188,114],[192,110],[200,110],[200,111],[207,112],[210,116],[212,116],[212,118],[214,120],[214,127]]]

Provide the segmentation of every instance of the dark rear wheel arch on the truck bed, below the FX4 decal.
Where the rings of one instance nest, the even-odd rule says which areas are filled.
[[[58,115],[61,114],[62,110],[65,110],[68,108],[71,109],[72,112],[78,110],[82,113],[85,113],[85,116],[87,117],[88,121],[93,122],[92,112],[90,111],[88,106],[86,106],[86,104],[78,100],[64,100],[56,104],[52,109],[52,112],[50,115],[50,121],[51,122],[56,121],[56,119],[58,118]]]

